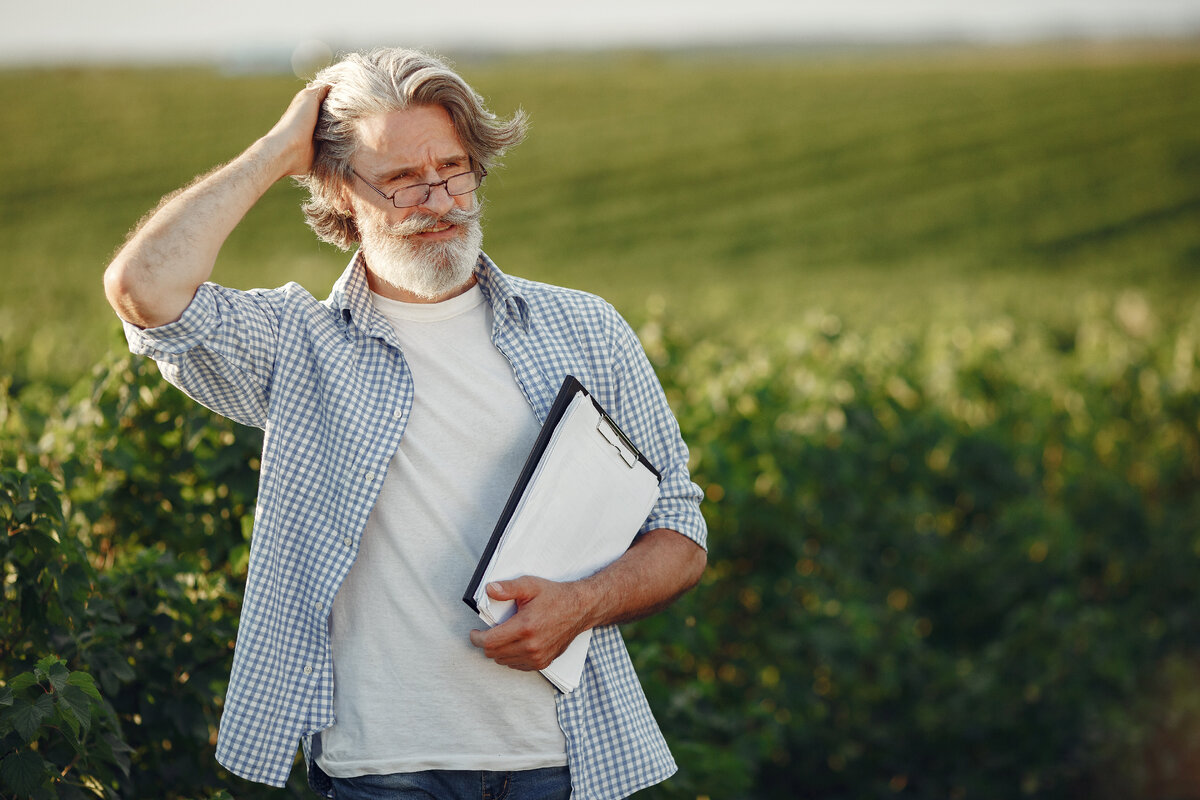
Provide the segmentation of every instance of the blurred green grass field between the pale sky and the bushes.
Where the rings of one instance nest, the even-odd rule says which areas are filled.
[[[1200,302],[1200,43],[457,59],[529,139],[488,179],[502,269],[696,336],[1012,314],[1069,329],[1091,293]],[[205,68],[7,71],[0,367],[73,380],[121,347],[101,273],[163,193],[235,156],[299,82]],[[347,255],[281,184],[215,279]]]

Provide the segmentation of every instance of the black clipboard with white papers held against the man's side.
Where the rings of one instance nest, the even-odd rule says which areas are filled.
[[[475,566],[463,602],[490,625],[515,613],[481,590],[533,575],[577,581],[629,548],[658,500],[662,475],[574,377],[551,405]],[[542,670],[559,690],[578,685],[590,642],[581,633]]]

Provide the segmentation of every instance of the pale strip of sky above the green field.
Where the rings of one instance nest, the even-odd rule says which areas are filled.
[[[289,59],[404,44],[544,50],[1200,34],[1200,0],[2,0],[0,64]]]

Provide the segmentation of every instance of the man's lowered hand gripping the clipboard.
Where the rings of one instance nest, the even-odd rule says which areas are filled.
[[[492,600],[514,600],[517,612],[470,643],[504,667],[545,669],[576,636],[592,627],[578,584],[524,576],[487,584]]]

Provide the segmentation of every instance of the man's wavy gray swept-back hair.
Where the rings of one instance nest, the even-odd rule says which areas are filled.
[[[328,84],[313,133],[312,172],[296,179],[308,190],[301,206],[317,236],[342,249],[359,241],[354,217],[338,203],[350,182],[350,157],[358,150],[358,122],[376,114],[418,106],[440,106],[450,113],[455,133],[476,166],[487,168],[526,134],[524,112],[499,120],[482,97],[444,61],[426,53],[382,48],[350,53],[318,72],[313,84]]]

